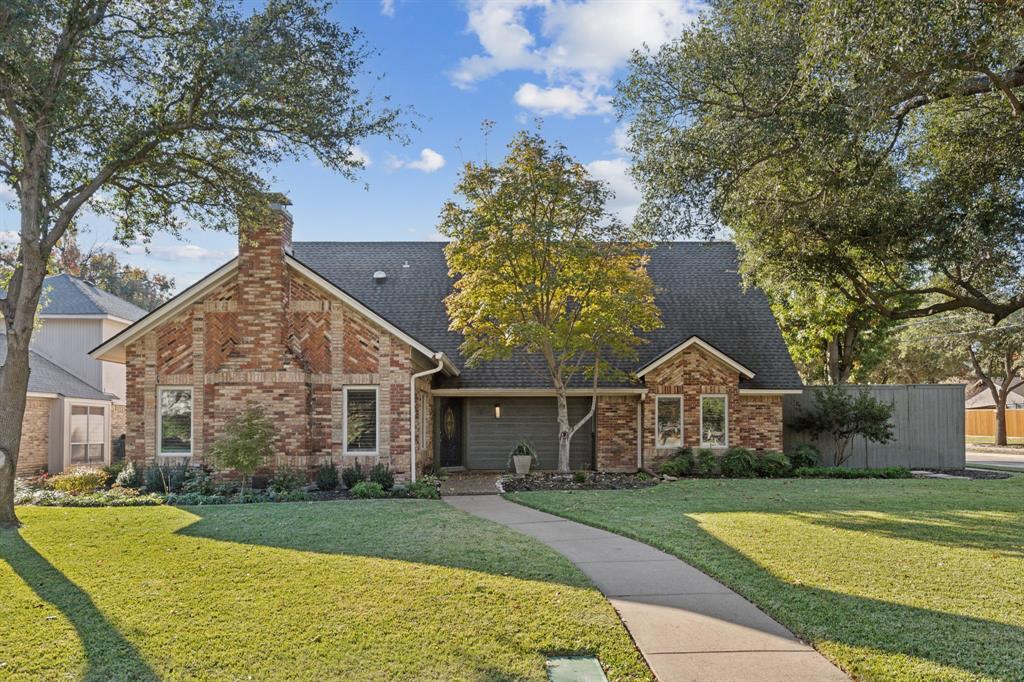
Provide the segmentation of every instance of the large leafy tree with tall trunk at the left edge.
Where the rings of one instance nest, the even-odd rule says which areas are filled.
[[[351,177],[352,145],[400,113],[359,91],[370,52],[318,0],[5,0],[0,182],[20,211],[0,299],[0,525],[13,479],[29,343],[47,261],[88,209],[123,242],[185,224],[230,229],[269,168],[315,157]]]

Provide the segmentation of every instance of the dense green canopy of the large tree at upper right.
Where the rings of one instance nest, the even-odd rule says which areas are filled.
[[[1024,307],[1016,3],[714,0],[634,55],[638,222],[890,318]],[[749,258],[753,254],[756,257]]]

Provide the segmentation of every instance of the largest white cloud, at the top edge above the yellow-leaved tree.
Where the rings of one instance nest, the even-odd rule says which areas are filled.
[[[632,50],[679,35],[697,6],[694,0],[470,0],[467,30],[482,51],[461,59],[452,82],[469,88],[503,72],[530,71],[544,74],[547,86],[525,83],[520,92],[571,88],[595,102],[587,114],[603,114],[614,72]],[[571,108],[548,111],[579,115]]]

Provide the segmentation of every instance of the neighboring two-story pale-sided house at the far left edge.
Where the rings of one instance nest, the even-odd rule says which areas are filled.
[[[17,475],[109,464],[125,432],[125,368],[89,356],[145,310],[72,276],[46,278],[32,335]],[[0,360],[7,355],[0,335]]]

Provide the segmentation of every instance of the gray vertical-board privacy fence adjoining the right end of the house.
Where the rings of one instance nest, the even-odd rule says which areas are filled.
[[[846,386],[857,393],[861,389],[877,399],[893,406],[893,440],[880,444],[854,438],[848,467],[910,467],[911,469],[963,469],[966,463],[964,440],[963,384],[886,384]],[[785,418],[783,443],[786,452],[802,442],[812,442],[821,451],[822,464],[833,462],[831,437],[817,439],[790,426],[800,410],[814,408],[813,387],[802,395],[786,395],[782,403]]]

